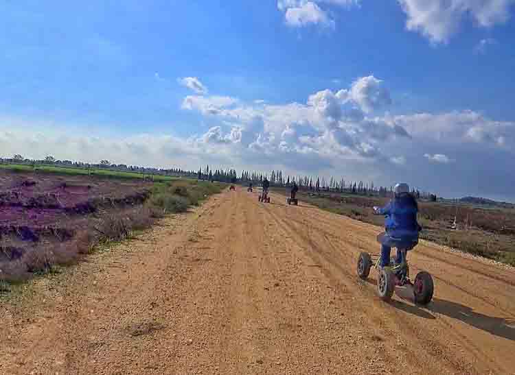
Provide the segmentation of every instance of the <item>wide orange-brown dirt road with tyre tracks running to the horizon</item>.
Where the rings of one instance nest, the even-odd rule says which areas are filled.
[[[422,243],[434,302],[386,304],[355,270],[380,228],[272,199],[227,191],[36,280],[0,306],[0,373],[515,374],[512,269]]]

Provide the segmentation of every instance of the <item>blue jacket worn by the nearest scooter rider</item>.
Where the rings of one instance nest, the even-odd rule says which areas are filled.
[[[386,215],[385,228],[387,234],[402,239],[417,239],[420,226],[417,222],[418,205],[415,198],[403,194],[391,199],[378,213]]]

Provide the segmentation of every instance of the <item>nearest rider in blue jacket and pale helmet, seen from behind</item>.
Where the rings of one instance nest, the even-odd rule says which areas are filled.
[[[413,248],[418,242],[422,228],[417,222],[418,205],[409,193],[408,184],[396,184],[393,199],[385,207],[374,207],[377,215],[386,215],[385,236],[381,239],[381,267],[390,265],[391,247]],[[402,254],[397,251],[396,263],[402,263]]]

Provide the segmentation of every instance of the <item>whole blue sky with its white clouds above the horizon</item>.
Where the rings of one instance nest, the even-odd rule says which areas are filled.
[[[220,3],[3,1],[0,154],[515,199],[514,1]]]

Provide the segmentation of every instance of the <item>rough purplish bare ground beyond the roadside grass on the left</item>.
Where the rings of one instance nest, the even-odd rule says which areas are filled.
[[[8,274],[26,277],[27,269],[47,265],[45,254],[61,264],[87,252],[90,242],[77,238],[78,232],[91,231],[107,216],[130,216],[130,210],[148,199],[148,186],[139,181],[0,170],[0,246],[5,249],[0,279]],[[140,222],[148,219],[139,215]]]

